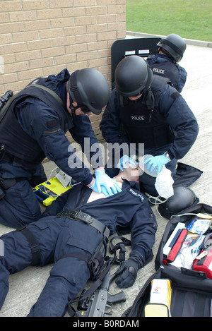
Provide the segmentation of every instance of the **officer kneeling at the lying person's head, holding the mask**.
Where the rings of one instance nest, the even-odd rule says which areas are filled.
[[[168,84],[168,78],[153,75],[140,56],[122,59],[114,79],[115,88],[100,123],[103,137],[112,144],[134,143],[137,152],[143,143],[144,154],[153,155],[146,161],[151,172],[165,165],[175,176],[177,160],[189,152],[199,131],[187,102]],[[110,176],[118,171],[116,164],[106,170]],[[144,173],[140,181],[146,192],[158,195],[155,178]]]

